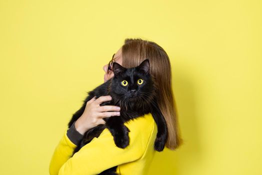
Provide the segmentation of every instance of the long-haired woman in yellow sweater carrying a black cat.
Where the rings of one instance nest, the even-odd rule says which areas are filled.
[[[158,106],[168,127],[165,146],[174,150],[181,145],[182,139],[174,111],[170,61],[162,47],[152,41],[126,38],[109,64],[103,66],[104,81],[113,77],[112,62],[129,68],[139,65],[145,58],[149,59],[149,71],[156,80],[158,90]],[[49,166],[51,175],[98,174],[116,165],[119,174],[146,174],[155,152],[153,143],[157,133],[157,126],[150,113],[125,123],[130,130],[130,142],[124,149],[115,146],[111,133],[105,128],[99,137],[94,137],[71,156],[85,131],[98,124],[105,124],[103,117],[119,115],[118,106],[99,105],[108,100],[111,100],[109,95],[92,98],[86,103],[83,114],[64,132],[54,150]]]

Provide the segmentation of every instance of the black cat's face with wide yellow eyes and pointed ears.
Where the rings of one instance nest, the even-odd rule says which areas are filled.
[[[154,92],[153,80],[149,74],[148,59],[132,68],[124,68],[114,62],[113,72],[111,90],[121,101],[147,100]]]

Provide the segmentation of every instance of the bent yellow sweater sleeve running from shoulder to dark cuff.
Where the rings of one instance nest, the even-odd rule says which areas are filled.
[[[140,119],[141,118],[141,119]],[[105,128],[98,138],[94,137],[72,157],[76,147],[64,132],[63,138],[55,148],[49,172],[50,175],[98,174],[110,167],[139,159],[146,148],[148,135],[144,135],[143,117],[132,120],[125,125],[129,128],[129,145],[124,149],[115,145],[113,136]]]

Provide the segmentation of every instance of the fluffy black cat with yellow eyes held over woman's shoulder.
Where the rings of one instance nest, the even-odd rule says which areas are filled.
[[[83,135],[83,139],[74,149],[73,154],[82,146],[90,142],[93,137],[98,137],[106,127],[111,132],[114,143],[117,147],[124,148],[129,144],[129,129],[124,125],[125,121],[144,114],[151,113],[156,125],[157,135],[154,142],[154,149],[162,151],[167,139],[166,121],[157,105],[156,88],[154,80],[149,73],[149,60],[143,60],[140,65],[131,68],[124,68],[117,62],[113,62],[114,76],[103,84],[88,92],[82,107],[77,110],[68,123],[68,127],[76,121],[85,109],[86,102],[95,96],[110,95],[112,99],[100,104],[120,106],[120,116],[110,116],[103,118],[106,123],[99,124]],[[100,174],[116,174],[117,166],[104,170]]]

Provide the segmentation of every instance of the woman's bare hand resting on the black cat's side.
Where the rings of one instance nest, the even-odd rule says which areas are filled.
[[[99,125],[105,124],[103,117],[110,117],[114,115],[120,115],[120,107],[115,105],[100,106],[104,101],[110,101],[112,97],[110,95],[100,96],[95,99],[95,96],[86,102],[83,114],[75,121],[75,129],[82,135],[87,130]],[[111,112],[107,112],[111,111]]]

